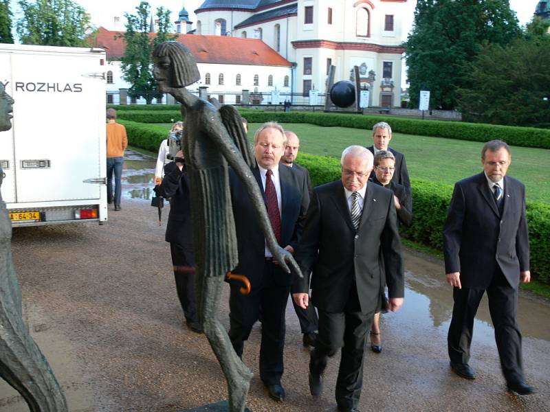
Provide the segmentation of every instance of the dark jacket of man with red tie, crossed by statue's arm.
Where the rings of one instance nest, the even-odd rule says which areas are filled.
[[[265,200],[259,168],[252,169]],[[233,214],[236,227],[236,240],[239,249],[239,265],[233,273],[245,275],[250,279],[252,288],[262,284],[263,265],[265,261],[265,238],[260,225],[256,221],[256,213],[250,203],[248,190],[238,176],[230,168],[230,190]],[[298,241],[303,231],[303,223],[309,194],[303,172],[285,165],[279,165],[279,180],[281,182],[281,247],[288,244],[298,248]],[[235,281],[231,281],[235,282]],[[281,271],[276,278],[279,286],[292,283],[292,273]]]

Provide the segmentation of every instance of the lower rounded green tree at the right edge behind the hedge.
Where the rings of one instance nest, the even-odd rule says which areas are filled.
[[[459,89],[464,119],[550,126],[550,34],[544,22],[531,23],[524,38],[485,45],[467,64],[471,80]]]

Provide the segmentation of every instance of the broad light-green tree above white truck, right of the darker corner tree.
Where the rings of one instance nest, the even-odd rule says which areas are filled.
[[[24,45],[87,46],[90,28],[86,10],[71,0],[19,0],[23,17],[17,34]]]

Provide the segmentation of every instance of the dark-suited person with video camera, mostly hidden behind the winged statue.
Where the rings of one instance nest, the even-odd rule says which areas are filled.
[[[176,157],[183,159],[183,152],[181,150],[177,152]],[[193,252],[189,178],[184,163],[173,161],[167,163],[164,166],[164,179],[155,187],[155,192],[159,196],[170,198],[166,242],[170,242],[177,297],[184,310],[187,327],[193,332],[202,333],[195,300],[195,253]]]

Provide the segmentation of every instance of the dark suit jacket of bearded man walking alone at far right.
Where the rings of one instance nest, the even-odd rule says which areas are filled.
[[[485,173],[454,185],[443,228],[443,253],[445,273],[460,272],[463,288],[487,288],[496,264],[516,288],[520,271],[529,270],[525,186],[511,177],[504,179],[502,216]]]

